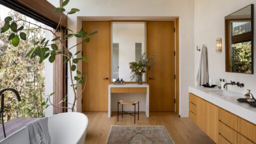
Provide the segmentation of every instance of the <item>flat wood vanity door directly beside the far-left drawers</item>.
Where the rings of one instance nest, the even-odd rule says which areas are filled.
[[[196,97],[196,124],[206,132],[206,101]]]

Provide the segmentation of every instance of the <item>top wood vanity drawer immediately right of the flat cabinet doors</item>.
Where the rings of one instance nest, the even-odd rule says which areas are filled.
[[[219,120],[229,127],[233,128],[234,130],[237,130],[237,116],[222,109],[219,108]]]

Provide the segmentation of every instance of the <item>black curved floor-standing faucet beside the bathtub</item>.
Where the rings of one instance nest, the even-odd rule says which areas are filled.
[[[0,95],[1,95],[0,117],[2,119],[2,129],[3,129],[4,138],[6,137],[6,134],[5,134],[4,123],[3,123],[3,110],[4,110],[4,94],[3,94],[3,92],[7,91],[7,90],[12,91],[16,95],[18,101],[21,101],[21,98],[20,98],[17,90],[15,90],[13,88],[3,88],[0,90]]]

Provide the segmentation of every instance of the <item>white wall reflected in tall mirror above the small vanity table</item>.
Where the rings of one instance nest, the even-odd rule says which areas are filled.
[[[130,81],[129,62],[135,61],[135,43],[141,43],[141,53],[145,52],[145,24],[144,22],[113,22],[112,42],[119,43],[119,78]],[[143,76],[143,81],[145,76]],[[133,79],[132,81],[135,81]]]

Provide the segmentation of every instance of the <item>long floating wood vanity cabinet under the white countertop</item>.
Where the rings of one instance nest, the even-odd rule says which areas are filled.
[[[218,144],[256,143],[256,125],[189,93],[189,118]]]

